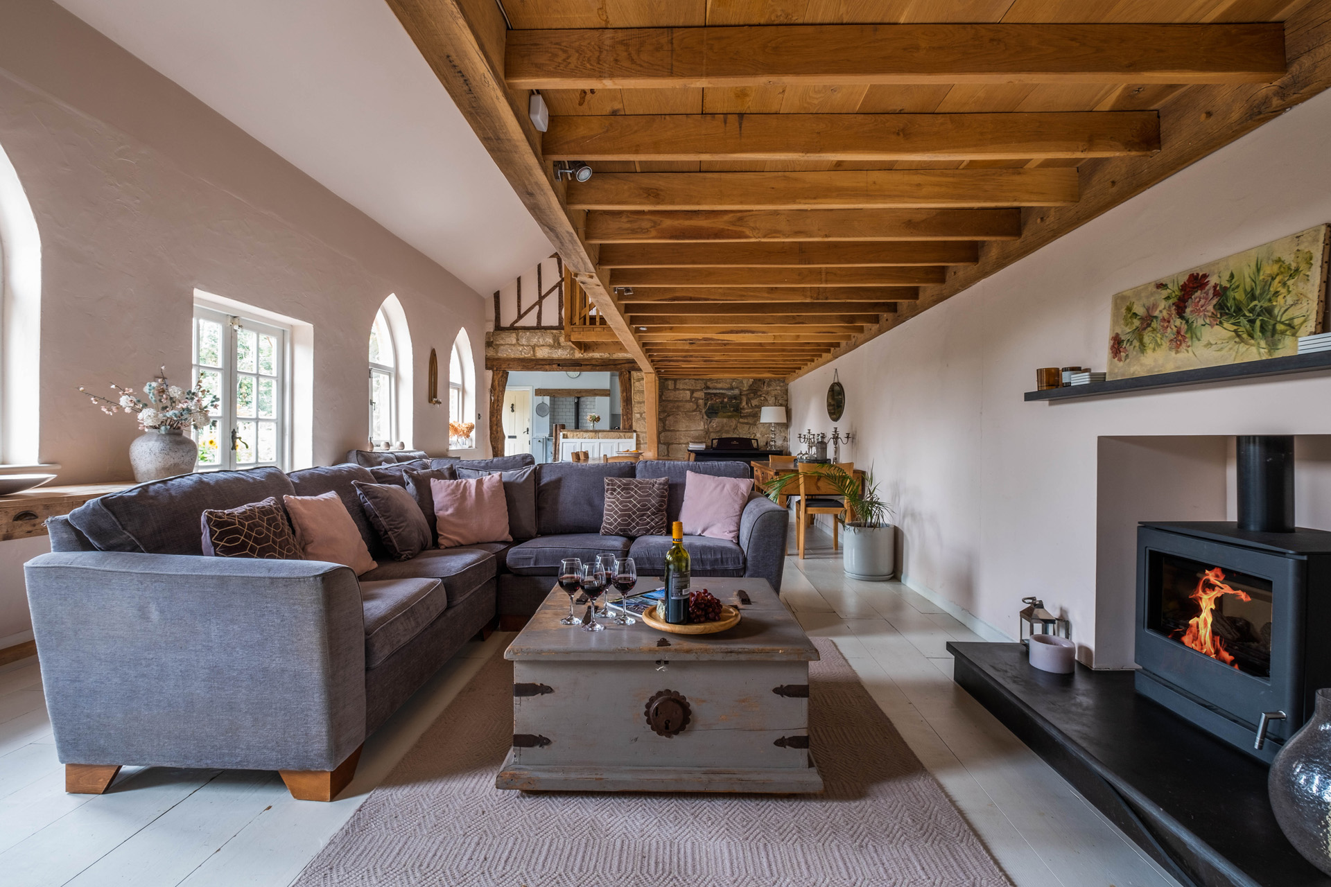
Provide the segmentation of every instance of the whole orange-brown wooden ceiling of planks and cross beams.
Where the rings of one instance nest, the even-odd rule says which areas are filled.
[[[492,0],[389,1],[431,59],[423,19]],[[1154,156],[1182,93],[1282,78],[1303,5],[503,0],[487,52],[511,106],[548,105],[539,162],[594,170],[552,188],[626,346],[667,376],[781,376],[1077,205],[1086,164]]]

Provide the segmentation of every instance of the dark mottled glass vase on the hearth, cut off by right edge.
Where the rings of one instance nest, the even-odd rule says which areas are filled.
[[[1331,690],[1318,690],[1312,719],[1275,755],[1266,787],[1284,836],[1331,875]]]

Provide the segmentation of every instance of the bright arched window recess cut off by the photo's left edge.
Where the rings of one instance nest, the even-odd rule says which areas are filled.
[[[40,461],[41,238],[0,148],[0,461]]]

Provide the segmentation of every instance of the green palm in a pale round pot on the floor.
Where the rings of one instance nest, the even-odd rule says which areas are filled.
[[[892,505],[878,493],[873,469],[865,472],[864,483],[840,465],[820,465],[813,471],[827,480],[845,503],[847,513],[836,516],[845,529],[845,556],[841,567],[851,578],[885,582],[896,573],[896,535],[892,525]],[[767,495],[776,501],[787,487],[799,488],[799,472],[780,475],[767,485]]]

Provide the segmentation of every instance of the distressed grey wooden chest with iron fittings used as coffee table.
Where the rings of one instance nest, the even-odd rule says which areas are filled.
[[[514,745],[499,789],[823,790],[808,730],[817,648],[765,580],[700,578],[695,588],[737,604],[740,624],[693,636],[642,620],[583,632],[559,624],[568,594],[551,590],[504,652]],[[740,589],[751,604],[740,604]]]

